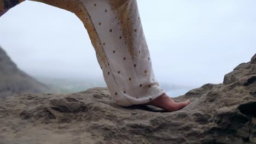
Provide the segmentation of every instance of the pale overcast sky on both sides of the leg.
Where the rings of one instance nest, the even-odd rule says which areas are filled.
[[[254,0],[138,0],[160,83],[221,83],[256,52]],[[100,77],[94,48],[73,13],[26,1],[0,18],[0,45],[31,75]]]

